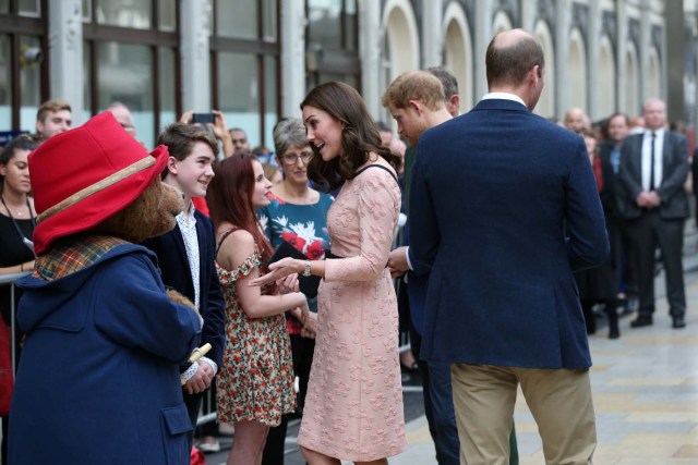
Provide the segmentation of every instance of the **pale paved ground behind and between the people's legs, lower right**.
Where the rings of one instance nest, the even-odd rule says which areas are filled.
[[[605,328],[590,338],[595,465],[698,465],[698,273],[688,272],[686,285],[685,329],[671,329],[659,298],[652,327],[630,329],[630,316],[621,321],[621,339],[606,339]],[[521,465],[544,464],[520,393],[515,415]],[[436,463],[424,417],[408,425],[408,442],[390,465]]]

